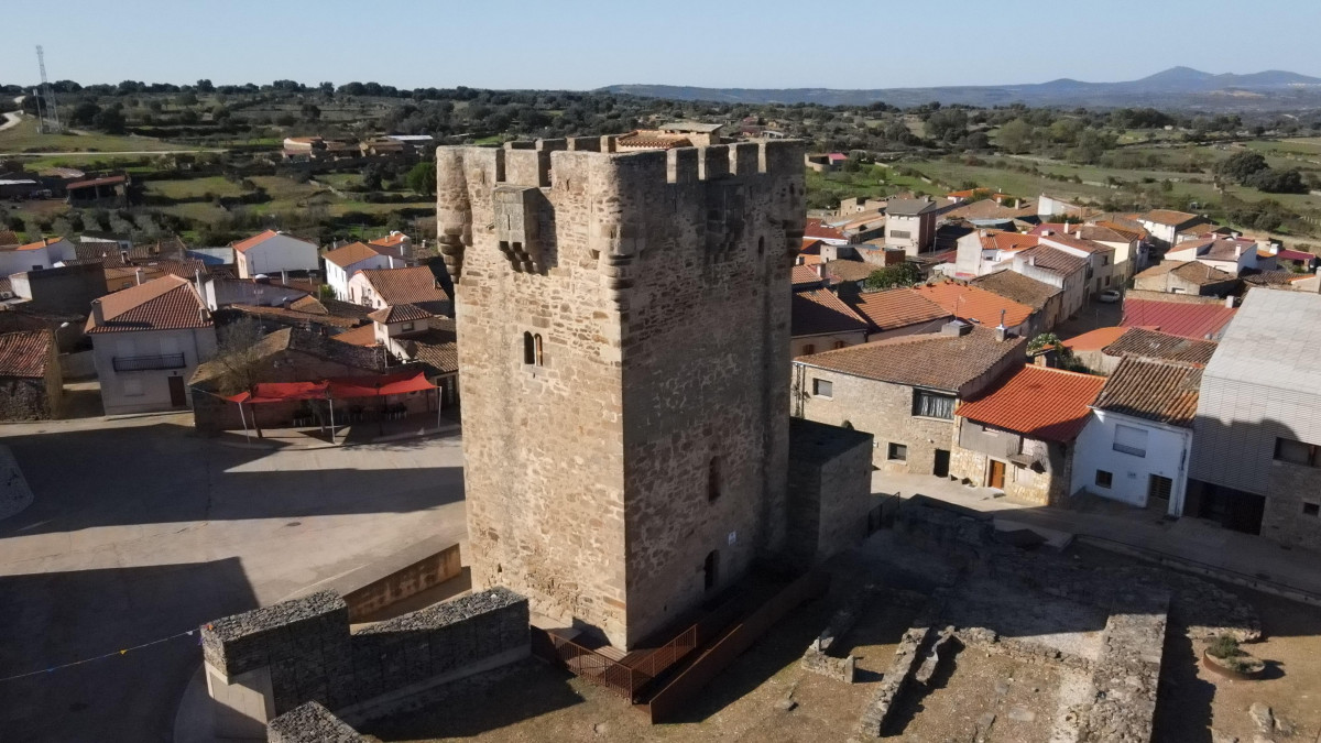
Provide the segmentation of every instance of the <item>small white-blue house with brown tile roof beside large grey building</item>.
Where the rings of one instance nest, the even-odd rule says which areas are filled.
[[[1070,493],[1184,514],[1202,366],[1124,357],[1074,448]]]

